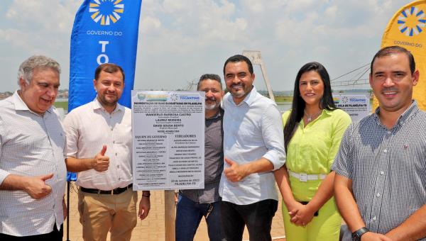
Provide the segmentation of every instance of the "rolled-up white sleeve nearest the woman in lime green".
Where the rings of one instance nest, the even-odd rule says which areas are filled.
[[[280,169],[285,163],[283,119],[276,106],[265,108],[262,116],[263,141],[268,151],[263,155],[273,164],[273,170]]]

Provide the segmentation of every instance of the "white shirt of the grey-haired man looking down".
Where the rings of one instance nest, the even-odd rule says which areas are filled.
[[[0,101],[0,184],[6,176],[42,176],[52,192],[35,200],[25,191],[0,190],[0,233],[41,235],[64,222],[62,199],[67,171],[65,133],[55,108],[40,116],[30,111],[16,91]]]

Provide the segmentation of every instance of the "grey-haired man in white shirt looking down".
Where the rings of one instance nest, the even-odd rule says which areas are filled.
[[[0,101],[0,240],[62,240],[65,133],[52,106],[60,65],[35,55]]]

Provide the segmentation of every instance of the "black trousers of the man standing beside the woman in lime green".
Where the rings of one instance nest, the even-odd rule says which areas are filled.
[[[241,241],[244,225],[249,230],[250,241],[271,241],[272,218],[278,201],[266,199],[248,205],[222,201],[222,225],[226,241]]]

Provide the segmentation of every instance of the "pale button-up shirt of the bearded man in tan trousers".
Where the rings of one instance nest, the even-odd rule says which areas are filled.
[[[67,114],[65,155],[93,158],[107,145],[109,167],[105,172],[89,169],[77,174],[76,184],[87,189],[112,190],[129,186],[131,172],[131,110],[117,103],[110,114],[94,99]]]

